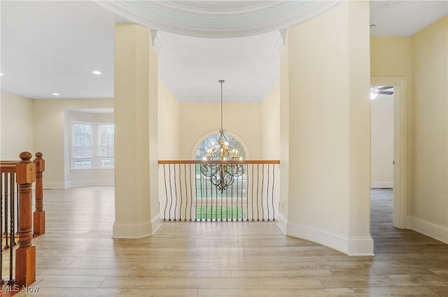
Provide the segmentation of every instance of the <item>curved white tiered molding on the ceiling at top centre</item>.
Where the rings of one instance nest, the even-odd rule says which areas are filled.
[[[336,6],[333,1],[96,1],[148,28],[228,38],[287,29]]]

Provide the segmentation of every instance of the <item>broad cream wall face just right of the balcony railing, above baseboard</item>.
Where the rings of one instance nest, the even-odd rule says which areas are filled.
[[[348,61],[339,42],[348,36],[338,20],[346,20],[344,10],[339,5],[288,29],[288,221],[338,235],[349,227]]]

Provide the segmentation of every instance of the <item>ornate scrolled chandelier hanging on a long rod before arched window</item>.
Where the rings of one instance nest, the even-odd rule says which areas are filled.
[[[233,184],[235,178],[244,173],[243,165],[237,164],[238,150],[230,147],[228,137],[223,129],[223,82],[224,80],[219,80],[221,84],[221,129],[219,129],[218,143],[212,143],[203,158],[204,161],[215,160],[216,162],[201,164],[202,175],[208,178],[221,193]]]

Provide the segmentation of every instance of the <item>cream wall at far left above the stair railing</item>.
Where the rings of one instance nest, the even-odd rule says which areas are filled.
[[[24,151],[34,155],[33,122],[31,99],[1,91],[0,160],[18,160]]]

